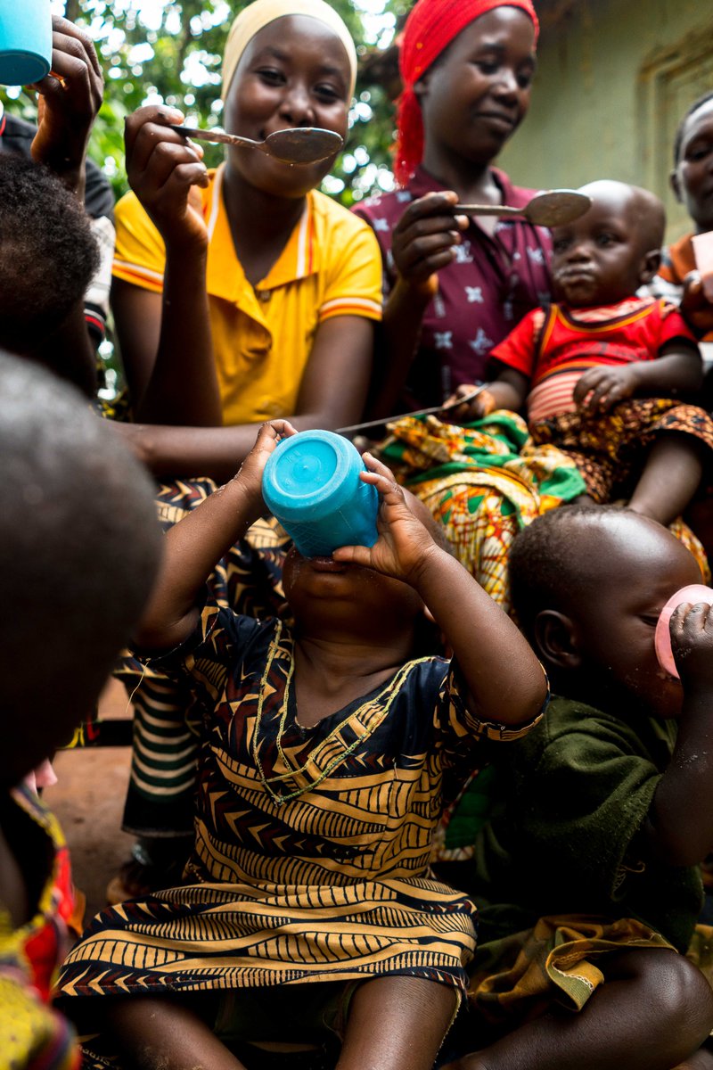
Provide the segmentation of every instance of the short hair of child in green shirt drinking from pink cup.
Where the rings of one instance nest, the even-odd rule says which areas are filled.
[[[617,505],[562,505],[517,534],[508,562],[510,593],[517,623],[530,643],[539,614],[545,609],[568,610],[571,593],[589,579],[582,547],[586,530],[606,526],[622,514],[639,516]],[[596,575],[591,580],[595,583]]]

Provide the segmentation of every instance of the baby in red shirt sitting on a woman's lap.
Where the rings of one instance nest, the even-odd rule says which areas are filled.
[[[713,422],[679,400],[695,396],[702,365],[676,306],[636,296],[660,263],[664,208],[622,182],[582,192],[589,211],[553,230],[557,303],[495,347],[493,382],[459,418],[525,406],[533,441],[571,456],[594,502],[629,498],[669,524],[701,482]]]

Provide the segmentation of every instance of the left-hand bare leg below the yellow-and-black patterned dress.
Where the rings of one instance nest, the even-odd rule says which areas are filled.
[[[191,1009],[192,1002],[196,997],[112,1000],[105,1022],[130,1070],[245,1070]]]

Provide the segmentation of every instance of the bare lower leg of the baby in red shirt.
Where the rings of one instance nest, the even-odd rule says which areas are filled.
[[[696,493],[702,474],[696,440],[688,434],[664,434],[649,450],[629,507],[668,526]]]

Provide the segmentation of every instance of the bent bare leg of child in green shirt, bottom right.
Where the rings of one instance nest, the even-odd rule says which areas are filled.
[[[713,1025],[696,966],[662,949],[624,951],[602,968],[606,983],[578,1014],[538,1019],[444,1070],[671,1070],[692,1057]]]

